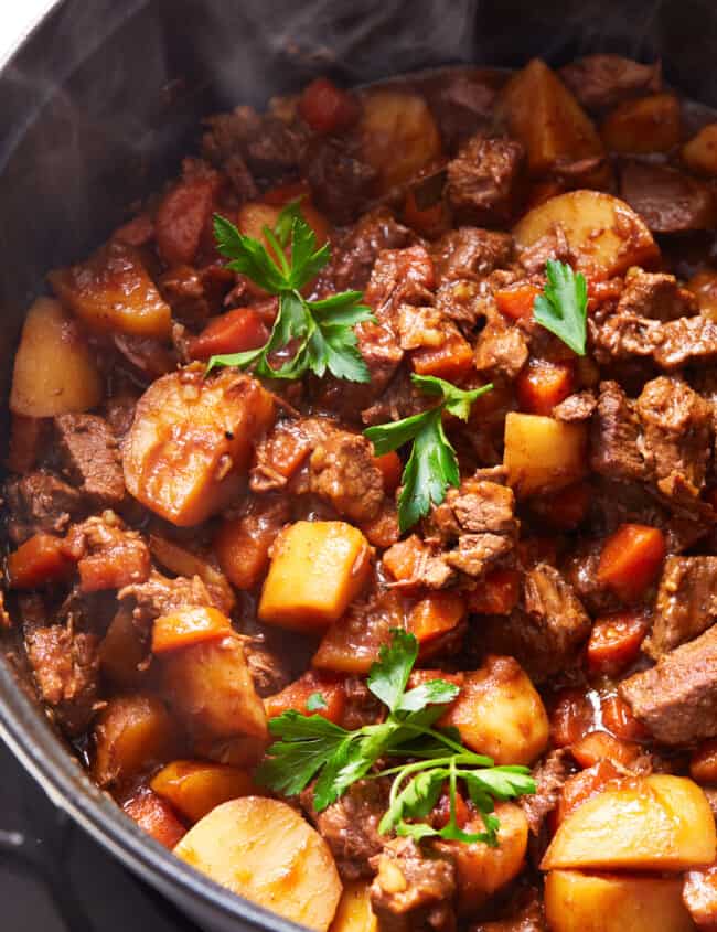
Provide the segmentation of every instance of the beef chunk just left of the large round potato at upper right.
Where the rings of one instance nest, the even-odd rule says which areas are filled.
[[[439,282],[482,278],[513,258],[510,233],[461,226],[441,236],[434,248]]]

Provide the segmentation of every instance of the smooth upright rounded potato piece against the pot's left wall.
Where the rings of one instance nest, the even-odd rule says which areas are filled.
[[[88,411],[104,395],[93,353],[60,301],[38,298],[15,353],[10,410],[43,418]]]

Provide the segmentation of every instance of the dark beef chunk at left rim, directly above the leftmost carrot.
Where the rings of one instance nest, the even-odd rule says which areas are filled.
[[[6,483],[8,534],[22,544],[33,534],[61,534],[86,508],[82,494],[50,472],[30,472]]]

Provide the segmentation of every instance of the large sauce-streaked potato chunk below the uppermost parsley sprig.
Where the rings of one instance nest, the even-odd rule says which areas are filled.
[[[162,376],[139,399],[125,440],[127,489],[172,524],[200,524],[239,494],[274,417],[274,396],[232,369],[208,379],[202,366]]]

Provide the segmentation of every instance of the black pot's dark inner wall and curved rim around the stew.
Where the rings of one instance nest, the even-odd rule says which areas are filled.
[[[86,254],[176,169],[203,115],[263,104],[317,74],[347,84],[459,62],[561,63],[614,51],[663,58],[668,82],[717,105],[710,0],[65,0],[0,71],[0,353],[44,274]],[[87,779],[0,658],[0,733],[53,801],[212,930],[287,923],[143,835]]]

